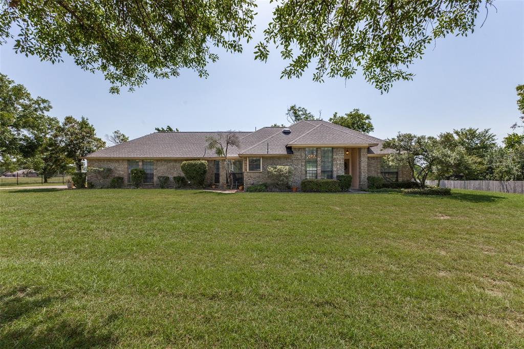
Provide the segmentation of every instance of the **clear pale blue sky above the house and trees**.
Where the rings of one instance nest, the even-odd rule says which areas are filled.
[[[81,70],[69,57],[53,66],[15,54],[12,45],[0,47],[0,71],[50,100],[53,116],[88,117],[101,137],[119,129],[136,138],[167,124],[181,131],[254,130],[287,123],[287,107],[297,104],[321,110],[324,119],[360,108],[380,138],[471,126],[491,128],[501,140],[517,121],[515,86],[524,83],[524,1],[495,5],[498,13],[492,8],[482,28],[485,12],[472,35],[438,40],[410,67],[414,80],[395,83],[387,94],[358,74],[325,83],[313,82],[311,72],[280,80],[285,62],[276,50],[267,63],[255,61],[253,47],[271,17],[266,1],[259,2],[254,40],[242,54],[216,51],[220,60],[209,64],[208,79],[184,70],[179,78],[152,79],[134,93],[112,95],[103,75]]]

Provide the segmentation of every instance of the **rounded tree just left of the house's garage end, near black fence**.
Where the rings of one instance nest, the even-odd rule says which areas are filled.
[[[73,161],[77,172],[82,170],[82,157],[105,148],[105,142],[96,137],[94,126],[83,116],[80,120],[66,116],[57,136],[65,156]]]

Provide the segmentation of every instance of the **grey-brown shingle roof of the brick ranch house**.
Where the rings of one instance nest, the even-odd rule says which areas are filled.
[[[389,154],[382,149],[382,139],[323,120],[301,121],[289,126],[290,134],[282,133],[284,127],[263,127],[255,132],[235,132],[240,146],[231,147],[228,156],[238,155],[287,155],[291,146],[307,145],[367,145],[368,154]],[[206,150],[205,138],[217,132],[157,132],[128,142],[95,151],[85,158],[213,158],[213,151]]]

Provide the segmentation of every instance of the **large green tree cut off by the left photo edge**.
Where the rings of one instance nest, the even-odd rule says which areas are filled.
[[[0,74],[0,162],[12,168],[19,157],[37,154],[56,118],[47,113],[51,103],[33,98],[27,89]],[[8,165],[9,164],[9,165]]]

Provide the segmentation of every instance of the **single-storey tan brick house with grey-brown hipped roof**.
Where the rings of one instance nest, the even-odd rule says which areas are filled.
[[[88,167],[112,168],[127,185],[134,168],[146,172],[146,184],[156,186],[158,176],[183,176],[185,160],[208,161],[206,184],[226,186],[223,157],[206,149],[206,136],[216,132],[157,132],[85,156]],[[389,180],[410,180],[407,168],[387,168],[382,158],[391,149],[382,149],[383,140],[322,120],[301,121],[289,127],[264,127],[255,132],[237,132],[240,146],[230,147],[235,185],[267,181],[267,167],[293,168],[293,186],[305,178],[333,178],[351,174],[352,188],[367,188],[368,176]],[[88,181],[89,181],[88,174]],[[95,183],[98,184],[98,183]]]

